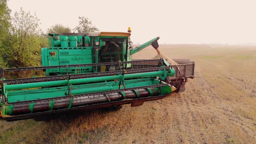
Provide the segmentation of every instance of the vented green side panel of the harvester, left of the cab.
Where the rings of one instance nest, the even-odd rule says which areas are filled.
[[[51,53],[51,54],[50,54]],[[75,65],[88,64],[92,62],[92,48],[91,47],[72,47],[72,48],[43,48],[42,49],[42,65]],[[46,75],[55,74],[79,74],[92,72],[92,66],[89,67],[75,67],[61,69],[46,69]]]

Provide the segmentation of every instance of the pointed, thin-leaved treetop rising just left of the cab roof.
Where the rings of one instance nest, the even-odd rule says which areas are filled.
[[[99,31],[95,26],[92,25],[92,21],[85,16],[79,16],[79,25],[73,29],[78,33],[89,33]]]

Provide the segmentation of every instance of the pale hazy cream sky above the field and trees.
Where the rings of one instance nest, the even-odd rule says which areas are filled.
[[[143,43],[256,43],[255,0],[9,0],[16,10],[37,14],[41,28],[70,28],[86,16],[101,31],[126,32]]]

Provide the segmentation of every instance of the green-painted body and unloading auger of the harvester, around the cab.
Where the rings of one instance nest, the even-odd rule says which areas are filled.
[[[56,39],[56,36],[59,39]],[[122,52],[120,52],[121,61],[131,61],[132,55],[139,52],[141,49],[152,45],[152,43],[157,43],[159,37],[151,39],[150,41],[136,47],[135,49],[130,49],[131,41],[128,36],[85,36],[85,47],[82,47],[82,35],[80,36],[59,36],[58,34],[49,34],[49,47],[42,49],[42,65],[72,65],[72,64],[89,64],[98,63],[99,51],[95,51],[95,48],[101,49],[103,46],[102,39],[125,39],[121,44]],[[97,46],[95,42],[100,44]],[[79,43],[79,44],[78,44]],[[56,55],[51,56],[50,52],[55,52]],[[113,54],[113,53],[112,53]],[[126,58],[127,57],[127,58]],[[125,67],[125,65],[122,65]],[[130,68],[131,64],[127,64]],[[76,73],[89,73],[97,72],[98,69],[89,67],[79,67],[79,68],[60,68],[60,69],[46,69],[46,75],[65,75],[76,74]]]

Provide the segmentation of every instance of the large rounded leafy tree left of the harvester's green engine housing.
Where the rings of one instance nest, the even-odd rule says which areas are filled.
[[[10,67],[40,65],[40,33],[36,14],[22,8],[14,13],[4,51]]]

